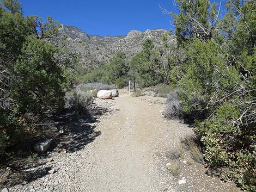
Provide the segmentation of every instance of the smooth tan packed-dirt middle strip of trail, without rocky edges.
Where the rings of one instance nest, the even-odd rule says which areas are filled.
[[[159,191],[152,144],[163,123],[159,110],[128,95],[115,98],[118,113],[101,122],[101,135],[88,157],[84,191]]]

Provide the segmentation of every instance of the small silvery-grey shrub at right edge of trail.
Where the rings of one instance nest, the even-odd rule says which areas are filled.
[[[182,112],[181,102],[178,97],[178,90],[172,90],[168,92],[164,115],[168,119],[173,119],[175,117],[182,117],[183,112]]]

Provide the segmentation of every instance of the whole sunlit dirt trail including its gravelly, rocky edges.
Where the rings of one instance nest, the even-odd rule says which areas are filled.
[[[49,153],[51,162],[28,170],[32,175],[38,170],[44,174],[12,191],[239,191],[232,183],[206,175],[203,164],[182,154],[181,140],[193,134],[192,128],[164,119],[164,98],[120,93],[106,101],[113,113],[94,122],[75,121],[78,129],[86,131],[85,136],[77,132],[66,141],[71,147],[75,138],[76,150]],[[176,153],[180,153],[175,159],[179,169],[173,176],[166,164]],[[53,174],[47,174],[50,169]],[[179,184],[180,179],[186,182]]]

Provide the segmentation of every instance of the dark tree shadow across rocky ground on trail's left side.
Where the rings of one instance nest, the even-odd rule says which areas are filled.
[[[48,155],[52,152],[73,153],[92,143],[101,134],[96,131],[95,123],[108,112],[107,108],[92,106],[86,114],[80,116],[70,109],[52,116],[49,121],[54,126],[42,128],[40,137],[29,140],[22,147],[12,147],[4,157],[4,162],[1,160],[0,188],[26,184],[47,175],[52,169],[46,164]],[[59,132],[60,129],[63,129],[63,133]],[[35,153],[33,145],[38,139],[45,138],[53,139],[50,149],[46,153]],[[35,158],[28,163],[33,155]]]

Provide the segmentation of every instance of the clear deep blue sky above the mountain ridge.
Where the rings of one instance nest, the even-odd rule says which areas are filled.
[[[125,35],[131,29],[172,28],[159,5],[175,11],[172,0],[20,0],[25,16],[52,16],[60,23],[97,35]]]

